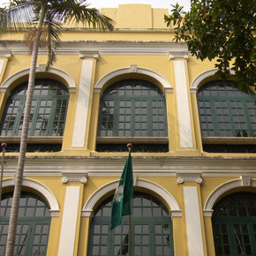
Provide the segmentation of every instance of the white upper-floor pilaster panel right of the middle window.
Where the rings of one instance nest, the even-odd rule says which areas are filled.
[[[193,147],[192,125],[184,61],[174,61],[180,147]]]

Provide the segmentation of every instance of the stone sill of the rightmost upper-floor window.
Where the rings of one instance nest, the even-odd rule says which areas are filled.
[[[256,145],[255,137],[203,137],[203,144]]]

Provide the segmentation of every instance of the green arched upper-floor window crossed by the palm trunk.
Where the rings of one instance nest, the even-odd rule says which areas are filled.
[[[1,136],[20,136],[27,82],[16,87],[6,102]],[[68,89],[53,79],[35,79],[28,136],[62,136],[68,108]]]

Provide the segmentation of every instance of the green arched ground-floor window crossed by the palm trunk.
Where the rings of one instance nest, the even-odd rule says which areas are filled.
[[[5,255],[12,192],[1,201],[0,255]],[[21,192],[14,255],[46,255],[49,238],[49,207],[38,196]]]

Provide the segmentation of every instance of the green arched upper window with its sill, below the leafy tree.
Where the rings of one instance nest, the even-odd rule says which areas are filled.
[[[241,92],[236,82],[215,80],[200,87],[198,106],[203,142],[246,144],[249,139],[229,138],[256,137],[255,94]],[[221,137],[226,139],[216,139]]]

